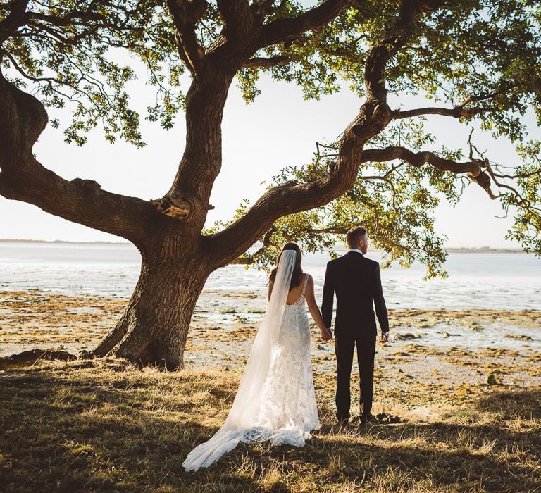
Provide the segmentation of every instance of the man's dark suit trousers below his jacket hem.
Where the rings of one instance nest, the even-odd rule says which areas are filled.
[[[336,416],[339,420],[349,419],[351,406],[351,382],[353,353],[357,347],[361,406],[359,413],[368,416],[372,409],[374,388],[374,334],[335,334],[335,353],[337,365]]]

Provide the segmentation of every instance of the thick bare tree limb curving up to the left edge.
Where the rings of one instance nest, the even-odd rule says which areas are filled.
[[[44,106],[0,73],[0,194],[141,244],[147,225],[165,218],[146,201],[105,192],[92,180],[64,180],[44,168],[32,146],[47,121]]]

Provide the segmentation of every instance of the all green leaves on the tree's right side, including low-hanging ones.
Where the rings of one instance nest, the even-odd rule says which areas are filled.
[[[340,80],[364,95],[364,59],[382,42],[397,20],[392,2],[363,2],[344,11],[318,32],[307,32],[290,46],[274,46],[268,55],[291,56],[294,62],[273,68],[280,80],[297,81],[307,97],[336,90]],[[471,110],[461,121],[477,118],[483,130],[495,138],[522,142],[527,135],[522,117],[533,108],[541,122],[541,4],[536,1],[467,0],[420,15],[410,41],[391,58],[385,69],[385,85],[395,94],[424,92],[437,106],[463,106]],[[332,74],[332,77],[331,77]],[[257,94],[256,74],[245,84]],[[317,81],[317,83],[316,83]],[[428,105],[430,106],[430,104]],[[395,122],[375,135],[367,147],[406,146],[412,151],[433,147],[435,137],[424,128],[425,120]],[[502,172],[495,167],[493,185],[504,209],[516,211],[508,238],[526,251],[541,254],[540,154],[541,144],[518,145],[525,164]],[[314,156],[301,168],[286,168],[274,185],[288,180],[310,182],[328,175],[336,157]],[[442,147],[442,158],[460,161],[461,149]],[[484,156],[482,156],[484,158]],[[506,173],[508,177],[499,177]],[[427,277],[445,276],[444,238],[434,229],[433,211],[441,198],[456,204],[466,176],[421,168],[397,161],[365,163],[346,194],[317,211],[306,211],[276,221],[263,247],[249,256],[259,268],[273,264],[280,246],[298,242],[304,251],[328,249],[352,225],[368,228],[373,245],[385,252],[387,263],[409,266],[421,261]],[[511,187],[511,188],[509,188]],[[244,204],[246,208],[246,204]],[[244,209],[243,209],[244,210]],[[237,218],[243,211],[237,211]]]

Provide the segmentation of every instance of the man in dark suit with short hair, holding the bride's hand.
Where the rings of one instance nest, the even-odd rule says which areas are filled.
[[[361,380],[361,423],[373,420],[371,415],[374,380],[374,354],[377,330],[372,300],[381,327],[380,342],[389,336],[387,308],[381,289],[380,266],[364,257],[368,251],[368,235],[363,227],[352,227],[346,235],[349,251],[327,264],[323,285],[321,313],[330,330],[332,304],[336,293],[335,352],[337,362],[336,416],[342,425],[349,423],[351,405],[349,378],[353,352],[357,347],[357,363]]]

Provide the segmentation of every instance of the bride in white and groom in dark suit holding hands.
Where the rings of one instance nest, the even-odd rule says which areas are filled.
[[[314,296],[313,278],[303,273],[301,251],[285,244],[269,277],[268,306],[240,381],[235,400],[222,427],[199,444],[182,466],[208,467],[239,442],[289,444],[303,447],[311,432],[320,428],[310,354],[306,305],[323,340],[332,339],[332,306],[336,295],[335,354],[337,361],[336,416],[349,423],[350,375],[354,350],[359,363],[361,423],[373,420],[375,313],[389,333],[380,267],[364,256],[368,235],[363,227],[347,232],[349,251],[327,264],[321,312]]]

